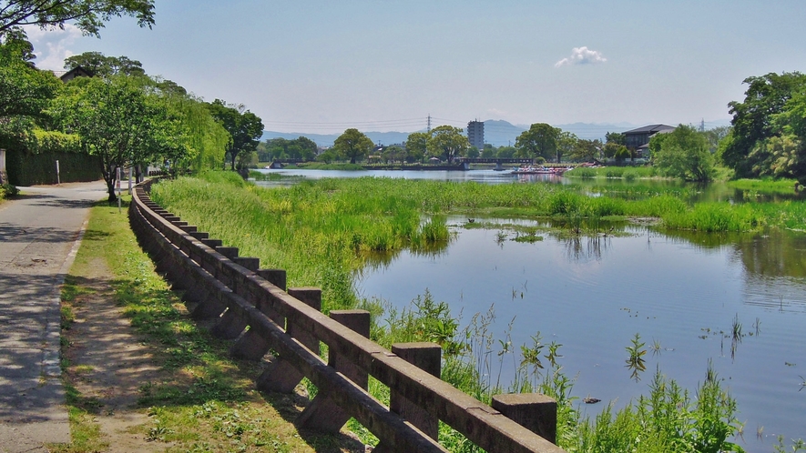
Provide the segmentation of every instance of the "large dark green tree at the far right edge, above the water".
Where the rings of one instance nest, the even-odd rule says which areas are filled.
[[[765,146],[757,145],[767,138],[781,135],[773,118],[784,111],[793,94],[806,86],[806,75],[770,73],[748,77],[743,83],[748,85],[744,102],[729,103],[733,132],[721,157],[737,176],[760,176],[766,171],[763,163],[770,162],[770,156],[764,152]]]

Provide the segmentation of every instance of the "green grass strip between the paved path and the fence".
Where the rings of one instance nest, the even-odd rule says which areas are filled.
[[[92,367],[70,359],[73,341],[81,339],[70,333],[77,328],[77,318],[96,309],[104,297],[128,318],[138,344],[153,357],[147,368],[153,368],[156,376],[140,383],[134,405],[127,408],[145,418],[129,429],[129,434],[143,439],[140,448],[176,452],[362,450],[362,445],[344,436],[301,436],[291,423],[301,410],[299,401],[257,392],[253,379],[260,369],[231,359],[230,343],[211,337],[206,327],[189,318],[178,295],[138,247],[126,210],[121,215],[117,207],[101,203],[92,209],[86,236],[62,291],[62,368],[73,440],[52,446],[52,451],[119,447],[117,439],[103,433],[98,423],[100,418],[114,415],[108,413],[103,395],[85,395],[79,390],[82,379],[91,378]],[[117,357],[119,351],[105,351],[105,344],[93,346],[96,354]],[[120,369],[128,369],[128,374],[138,372]],[[123,391],[117,388],[118,394]]]

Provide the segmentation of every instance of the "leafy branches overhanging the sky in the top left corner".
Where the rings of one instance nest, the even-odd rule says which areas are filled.
[[[98,35],[112,17],[129,15],[138,25],[154,25],[154,0],[2,0],[0,35],[21,25],[58,26],[75,21],[85,35]]]

